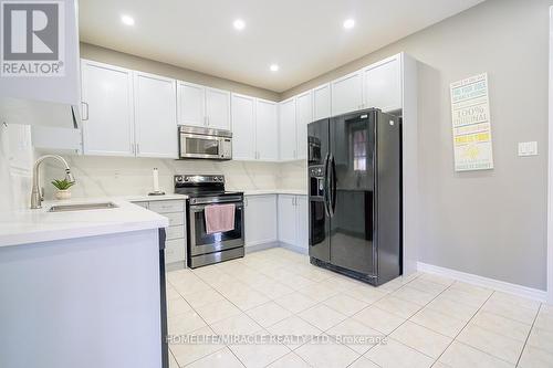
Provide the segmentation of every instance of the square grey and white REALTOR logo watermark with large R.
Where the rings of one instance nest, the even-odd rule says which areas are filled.
[[[0,1],[1,76],[64,76],[64,2]]]

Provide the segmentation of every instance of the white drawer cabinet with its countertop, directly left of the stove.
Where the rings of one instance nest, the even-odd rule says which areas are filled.
[[[169,227],[165,229],[165,264],[186,267],[186,217],[184,200],[160,200],[134,202],[150,211],[169,219]]]

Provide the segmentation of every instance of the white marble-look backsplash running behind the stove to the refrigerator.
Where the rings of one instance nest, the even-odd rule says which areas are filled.
[[[139,196],[153,190],[153,169],[159,170],[159,187],[173,193],[173,177],[178,174],[222,174],[228,190],[306,188],[305,162],[244,162],[209,160],[170,160],[150,158],[64,156],[76,185],[73,198]],[[64,178],[56,162],[44,162],[44,193],[53,197],[53,179]]]

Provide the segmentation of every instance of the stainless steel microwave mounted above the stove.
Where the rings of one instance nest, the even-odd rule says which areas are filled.
[[[232,132],[196,126],[180,126],[178,132],[181,159],[232,159]]]

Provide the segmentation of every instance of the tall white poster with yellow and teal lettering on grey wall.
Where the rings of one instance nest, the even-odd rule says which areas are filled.
[[[455,170],[493,169],[488,74],[451,83]]]

